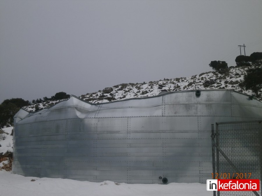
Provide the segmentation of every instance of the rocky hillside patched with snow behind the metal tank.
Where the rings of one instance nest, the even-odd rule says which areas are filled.
[[[105,103],[115,100],[124,100],[137,97],[151,97],[160,92],[197,89],[234,89],[238,92],[252,95],[251,90],[245,90],[241,85],[246,71],[252,67],[231,67],[224,73],[205,72],[191,77],[163,79],[148,83],[123,83],[107,87],[98,92],[86,93],[80,98],[91,103]],[[262,92],[262,91],[261,91]],[[259,97],[262,100],[262,97]],[[59,100],[61,101],[61,100]],[[54,105],[59,101],[47,101],[38,104],[39,109]],[[25,107],[28,111],[35,111],[35,105]]]

